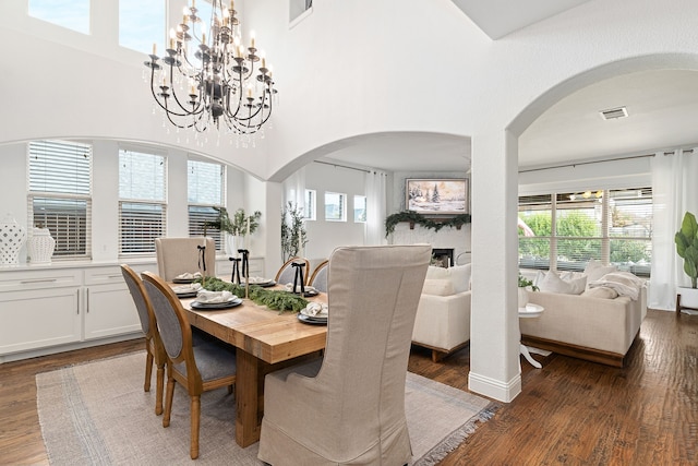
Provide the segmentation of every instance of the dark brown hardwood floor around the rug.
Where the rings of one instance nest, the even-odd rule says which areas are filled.
[[[48,464],[35,375],[142,349],[142,340],[0,365],[0,464]],[[500,404],[441,465],[698,464],[698,316],[649,311],[626,368],[551,355],[521,359],[522,393]],[[467,391],[469,348],[409,370]]]

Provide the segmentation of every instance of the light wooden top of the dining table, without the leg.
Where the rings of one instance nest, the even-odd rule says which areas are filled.
[[[191,309],[194,299],[181,300],[193,326],[268,363],[281,362],[325,347],[327,326],[302,323],[296,312],[279,313],[250,299],[243,299],[242,304],[231,309],[203,311]],[[327,295],[321,292],[306,299],[327,302]]]

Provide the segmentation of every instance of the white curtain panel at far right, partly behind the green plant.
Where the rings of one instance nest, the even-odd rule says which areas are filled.
[[[674,235],[686,212],[698,215],[698,147],[652,158],[652,272],[647,306],[674,310],[676,286],[690,286]]]

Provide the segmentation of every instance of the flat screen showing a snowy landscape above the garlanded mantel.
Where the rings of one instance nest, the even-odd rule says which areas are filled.
[[[405,207],[423,215],[468,213],[468,179],[442,178],[405,180]]]

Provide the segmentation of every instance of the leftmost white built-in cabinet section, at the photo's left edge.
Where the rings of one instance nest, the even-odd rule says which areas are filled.
[[[0,272],[0,355],[81,339],[81,272]]]

